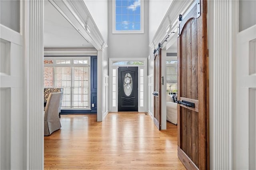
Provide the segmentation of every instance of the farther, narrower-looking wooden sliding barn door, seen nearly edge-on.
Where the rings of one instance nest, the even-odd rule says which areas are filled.
[[[154,124],[161,130],[161,48],[154,53]]]

